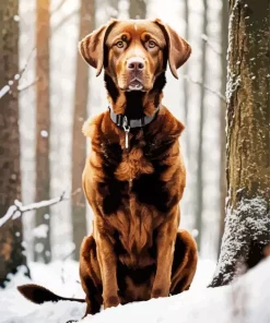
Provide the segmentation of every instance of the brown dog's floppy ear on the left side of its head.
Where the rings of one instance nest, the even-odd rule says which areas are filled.
[[[101,26],[79,43],[81,56],[92,68],[96,69],[96,76],[102,72],[105,41],[115,24],[116,20],[111,20],[108,24]]]

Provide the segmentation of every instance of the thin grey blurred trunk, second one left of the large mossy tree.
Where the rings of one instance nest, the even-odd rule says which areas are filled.
[[[208,3],[203,0],[203,25],[202,34],[207,35]],[[206,97],[206,76],[207,76],[207,43],[202,40],[201,57],[201,95],[200,95],[200,122],[199,122],[199,146],[198,146],[198,170],[197,170],[197,203],[196,203],[196,228],[199,231],[197,246],[200,251],[202,234],[202,212],[203,212],[203,127],[204,127],[204,97]]]

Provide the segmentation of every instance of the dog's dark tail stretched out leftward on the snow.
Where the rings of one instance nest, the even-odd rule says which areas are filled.
[[[78,301],[78,302],[85,302],[84,299],[80,298],[67,298],[67,297],[61,297],[52,291],[48,290],[45,287],[34,285],[34,284],[28,284],[28,285],[22,285],[17,286],[17,290],[28,300],[36,304],[42,304],[47,301],[52,301],[57,302],[59,300],[70,300],[70,301]]]

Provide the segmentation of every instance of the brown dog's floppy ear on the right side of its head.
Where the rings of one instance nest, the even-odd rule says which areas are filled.
[[[172,74],[178,79],[177,69],[181,67],[191,53],[190,45],[181,38],[173,28],[164,24],[161,20],[154,21],[163,31],[168,46],[168,64]]]

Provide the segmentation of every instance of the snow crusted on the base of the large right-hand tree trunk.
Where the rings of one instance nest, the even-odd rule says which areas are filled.
[[[223,248],[213,279],[214,282],[222,276],[222,285],[235,277],[237,261],[247,259],[249,244],[256,241],[267,246],[269,239],[266,237],[270,232],[269,204],[260,196],[243,199],[234,210],[228,207],[226,214]]]

